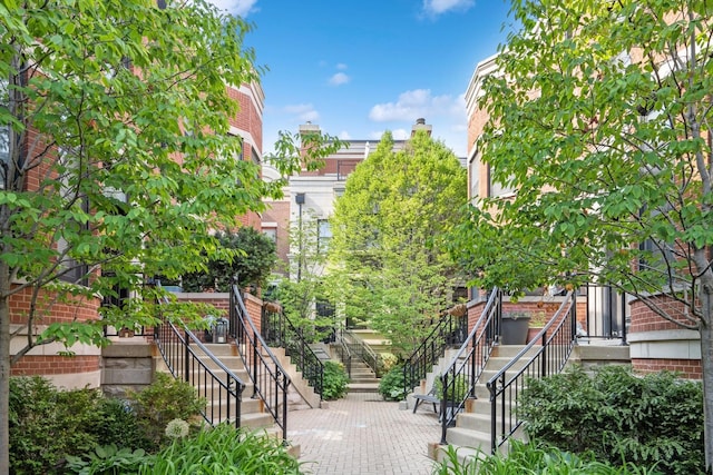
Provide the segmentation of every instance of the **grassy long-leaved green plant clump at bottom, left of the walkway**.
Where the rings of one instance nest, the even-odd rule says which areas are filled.
[[[300,463],[266,434],[236,431],[227,424],[176,439],[140,467],[140,475],[300,474]]]

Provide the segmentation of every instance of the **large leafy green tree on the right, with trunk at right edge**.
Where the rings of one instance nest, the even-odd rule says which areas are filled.
[[[700,331],[709,469],[712,12],[705,1],[515,2],[522,28],[486,81],[479,149],[517,194],[477,202],[456,246],[476,285],[609,284]]]

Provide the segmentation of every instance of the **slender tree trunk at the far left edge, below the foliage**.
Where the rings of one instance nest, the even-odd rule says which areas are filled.
[[[10,279],[0,261],[0,474],[10,473]]]

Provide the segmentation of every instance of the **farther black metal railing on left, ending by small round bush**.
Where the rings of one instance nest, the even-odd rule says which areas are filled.
[[[322,397],[324,365],[306,343],[302,328],[295,328],[282,310],[272,311],[263,306],[261,330],[267,345],[285,349],[302,377]]]

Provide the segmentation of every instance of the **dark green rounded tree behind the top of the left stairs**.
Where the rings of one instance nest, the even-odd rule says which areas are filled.
[[[219,246],[216,258],[207,264],[206,271],[191,273],[182,277],[184,291],[228,291],[233,277],[241,286],[262,287],[277,261],[275,243],[255,229],[244,226],[236,232],[217,232]],[[238,255],[235,256],[234,251]]]

